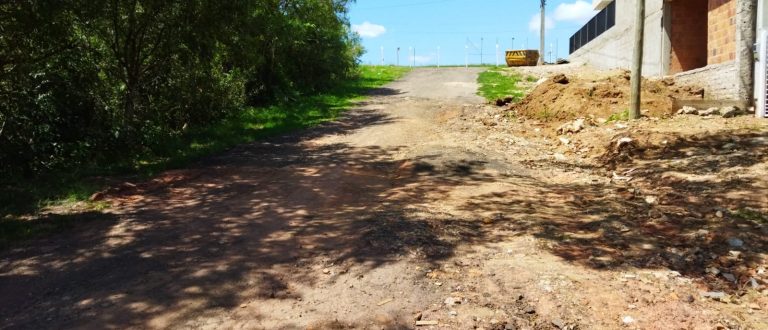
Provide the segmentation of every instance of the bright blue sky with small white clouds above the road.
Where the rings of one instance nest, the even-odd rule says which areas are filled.
[[[496,42],[503,51],[514,48],[539,48],[539,0],[357,0],[350,5],[353,30],[363,40],[364,64],[384,61],[395,64],[400,47],[400,65],[463,65],[465,46],[470,64],[496,63]],[[568,38],[596,12],[589,0],[547,1],[547,51],[554,57],[568,56]],[[483,39],[481,47],[481,38]],[[549,54],[547,54],[549,59]]]

